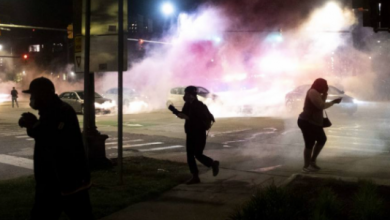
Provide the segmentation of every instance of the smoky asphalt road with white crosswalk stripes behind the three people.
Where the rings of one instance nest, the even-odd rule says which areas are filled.
[[[361,103],[354,116],[332,114],[328,142],[320,155],[320,174],[390,178],[390,103]],[[0,179],[32,174],[34,140],[17,126],[21,113],[32,111],[0,104]],[[217,118],[208,136],[206,155],[223,169],[289,176],[302,168],[303,139],[296,114],[279,118]],[[82,116],[79,116],[82,125]],[[98,115],[98,130],[109,135],[106,154],[117,156],[117,116]],[[124,155],[185,162],[183,121],[169,111],[124,116]],[[389,162],[387,162],[389,161]],[[223,170],[221,171],[223,172]]]

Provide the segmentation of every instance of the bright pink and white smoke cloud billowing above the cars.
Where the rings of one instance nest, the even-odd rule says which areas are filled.
[[[247,106],[251,115],[280,115],[286,93],[318,77],[371,98],[367,91],[375,76],[369,56],[353,47],[356,19],[350,8],[329,2],[308,4],[303,15],[299,8],[283,7],[275,14],[258,5],[264,1],[245,2],[207,4],[179,15],[177,26],[159,39],[169,44],[151,47],[144,59],[131,63],[124,87],[148,96],[147,109],[154,110],[165,108],[173,87],[203,86],[219,97],[209,104],[217,117],[246,115],[241,110]],[[340,64],[340,48],[352,63]],[[116,85],[117,75],[106,73],[97,89]]]

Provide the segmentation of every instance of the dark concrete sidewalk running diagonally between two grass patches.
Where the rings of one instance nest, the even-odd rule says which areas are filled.
[[[141,202],[102,220],[226,220],[256,189],[272,183],[281,185],[286,177],[221,169],[200,176],[202,183],[181,184],[154,200]]]

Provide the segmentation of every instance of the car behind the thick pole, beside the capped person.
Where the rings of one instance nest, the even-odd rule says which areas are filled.
[[[62,101],[71,105],[76,112],[84,113],[84,91],[64,92],[59,97]],[[110,113],[115,106],[113,100],[103,98],[95,92],[95,110],[97,113]]]

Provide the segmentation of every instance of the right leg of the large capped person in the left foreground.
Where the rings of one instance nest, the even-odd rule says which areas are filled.
[[[93,220],[91,201],[88,190],[78,192],[74,195],[63,196],[63,207],[65,214],[71,220]]]

